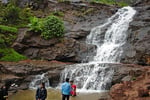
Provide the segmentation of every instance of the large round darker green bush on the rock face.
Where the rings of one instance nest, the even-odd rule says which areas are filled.
[[[42,34],[44,39],[62,37],[64,34],[63,21],[56,16],[49,16],[43,22]]]

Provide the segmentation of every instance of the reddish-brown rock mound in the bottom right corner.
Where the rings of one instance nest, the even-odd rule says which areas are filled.
[[[115,84],[110,90],[111,100],[150,100],[150,67],[143,67],[135,80]]]

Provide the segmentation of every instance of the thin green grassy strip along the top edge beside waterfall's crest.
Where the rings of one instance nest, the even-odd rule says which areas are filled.
[[[92,0],[91,3],[101,3],[101,4],[107,4],[107,5],[118,5],[120,7],[128,6],[126,2],[116,2],[116,0]]]

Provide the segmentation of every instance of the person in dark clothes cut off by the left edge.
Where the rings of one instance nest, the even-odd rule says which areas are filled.
[[[0,100],[8,100],[8,90],[5,85],[0,89]]]

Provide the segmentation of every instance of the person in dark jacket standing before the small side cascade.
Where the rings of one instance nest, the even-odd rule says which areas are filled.
[[[46,100],[47,90],[45,88],[45,83],[41,83],[40,88],[36,91],[36,100]]]

